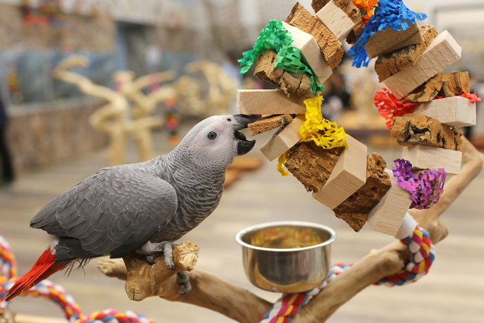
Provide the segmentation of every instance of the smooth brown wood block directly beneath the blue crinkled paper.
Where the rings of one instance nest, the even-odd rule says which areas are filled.
[[[371,35],[364,45],[364,50],[370,58],[374,58],[393,50],[419,44],[422,41],[423,38],[417,24],[410,25],[405,30],[393,30],[388,27]]]

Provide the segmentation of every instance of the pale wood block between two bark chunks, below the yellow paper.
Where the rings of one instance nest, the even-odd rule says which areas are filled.
[[[366,146],[348,136],[348,149],[339,156],[331,176],[313,198],[333,210],[366,183]]]

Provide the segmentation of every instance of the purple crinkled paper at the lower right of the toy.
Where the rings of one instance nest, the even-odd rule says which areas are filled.
[[[404,159],[395,159],[393,176],[404,190],[410,192],[412,203],[410,208],[428,209],[438,202],[445,184],[445,169],[425,170],[413,174],[411,163]]]

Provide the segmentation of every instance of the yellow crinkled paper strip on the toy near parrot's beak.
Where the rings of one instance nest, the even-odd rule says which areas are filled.
[[[306,121],[299,128],[299,134],[301,135],[299,142],[313,140],[317,146],[323,147],[324,149],[332,149],[335,147],[346,147],[348,149],[348,144],[346,143],[348,135],[344,132],[343,127],[338,128],[336,122],[331,122],[323,118],[321,113],[323,100],[322,95],[304,100],[304,104],[306,104]],[[286,172],[283,168],[289,156],[290,149],[279,156],[277,170],[282,176],[289,175],[289,172]]]

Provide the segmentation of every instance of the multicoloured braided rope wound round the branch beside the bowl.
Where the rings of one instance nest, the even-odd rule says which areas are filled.
[[[416,225],[409,236],[400,239],[407,250],[410,252],[409,262],[405,264],[404,268],[395,275],[390,275],[380,279],[375,285],[385,286],[403,286],[427,275],[431,264],[435,259],[435,246],[429,239],[429,232],[421,229]],[[323,284],[313,288],[304,293],[284,294],[283,297],[268,311],[259,323],[288,323],[290,318],[295,316],[301,306],[307,304],[310,299],[319,294],[321,290],[331,282],[334,277],[342,273],[344,270],[351,268],[353,264],[336,264],[331,266],[328,279]]]

